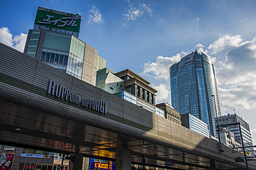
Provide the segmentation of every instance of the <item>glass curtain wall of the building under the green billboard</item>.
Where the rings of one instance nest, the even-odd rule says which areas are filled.
[[[40,61],[82,79],[85,43],[75,36],[46,31]]]

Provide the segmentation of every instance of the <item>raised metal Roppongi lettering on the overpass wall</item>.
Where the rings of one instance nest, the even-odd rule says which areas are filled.
[[[55,81],[50,80],[48,85],[48,94],[56,96],[57,98],[64,98],[64,100],[68,100],[71,103],[75,103],[77,105],[82,105],[82,107],[87,107],[89,109],[93,109],[95,111],[99,111],[102,114],[107,114],[107,102],[100,100],[91,100],[89,98],[80,98],[66,87],[55,83]]]

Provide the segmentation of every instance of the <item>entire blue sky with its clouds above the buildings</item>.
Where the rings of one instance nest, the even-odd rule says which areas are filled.
[[[0,1],[0,42],[23,50],[37,7],[47,1]],[[80,39],[114,72],[129,68],[170,103],[169,67],[194,50],[217,70],[223,114],[250,124],[256,143],[256,1],[48,1],[48,8],[82,15]]]

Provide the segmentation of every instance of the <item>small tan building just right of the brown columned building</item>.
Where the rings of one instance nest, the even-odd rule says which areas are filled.
[[[166,119],[181,125],[181,115],[178,111],[174,110],[174,108],[169,103],[159,103],[156,105],[156,107],[165,111]]]

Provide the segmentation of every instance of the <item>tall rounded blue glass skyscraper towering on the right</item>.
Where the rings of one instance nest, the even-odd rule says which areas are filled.
[[[172,107],[182,114],[192,114],[209,126],[217,137],[214,118],[221,116],[221,103],[214,65],[209,56],[197,51],[170,67]]]

